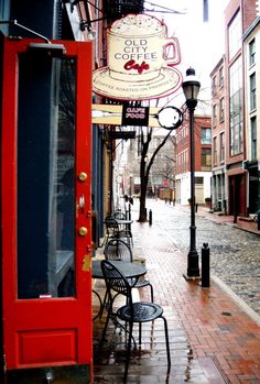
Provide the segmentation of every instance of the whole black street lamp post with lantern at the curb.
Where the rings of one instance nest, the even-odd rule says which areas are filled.
[[[197,95],[201,83],[195,78],[195,70],[186,70],[186,79],[183,81],[183,92],[189,112],[189,165],[191,165],[191,239],[187,254],[187,279],[199,277],[198,253],[196,250],[196,226],[195,226],[195,180],[194,180],[194,110],[197,106]]]

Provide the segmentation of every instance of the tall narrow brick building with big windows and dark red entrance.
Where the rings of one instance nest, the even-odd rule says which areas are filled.
[[[257,19],[256,0],[231,0],[225,10],[227,90],[226,175],[228,212],[248,215],[242,35]]]

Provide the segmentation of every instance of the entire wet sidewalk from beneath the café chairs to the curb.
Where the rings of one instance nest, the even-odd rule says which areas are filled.
[[[206,289],[198,281],[187,282],[186,255],[165,231],[134,221],[133,232],[134,252],[145,257],[154,301],[169,321],[172,369],[167,376],[163,328],[156,321],[152,329],[144,327],[141,349],[132,352],[128,383],[260,383],[260,322],[215,282]],[[140,295],[150,299],[149,289]],[[99,349],[102,325],[104,319],[94,322],[95,383],[122,383],[124,334],[111,327]]]

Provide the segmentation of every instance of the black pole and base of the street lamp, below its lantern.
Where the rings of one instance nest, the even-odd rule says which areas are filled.
[[[189,165],[191,165],[191,238],[189,252],[187,254],[187,277],[199,276],[198,253],[196,250],[196,226],[195,226],[195,179],[194,179],[194,110],[189,106]]]

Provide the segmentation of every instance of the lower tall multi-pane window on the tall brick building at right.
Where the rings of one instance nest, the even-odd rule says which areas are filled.
[[[242,152],[242,67],[241,56],[229,68],[230,155]]]

